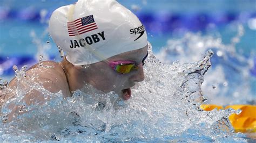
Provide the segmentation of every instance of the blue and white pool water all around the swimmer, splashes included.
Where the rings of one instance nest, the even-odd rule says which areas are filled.
[[[73,2],[75,1],[0,2],[0,77],[3,80],[9,81],[15,75],[13,65],[17,65],[19,69],[23,65],[30,67],[38,62],[39,55],[43,55],[43,60],[61,60],[55,44],[49,37],[47,20],[54,9]],[[161,62],[154,65],[155,61],[151,59],[152,64],[146,67],[146,80],[134,88],[136,96],[118,111],[114,111],[116,108],[109,103],[108,110],[92,112],[91,106],[94,102],[82,105],[85,101],[79,101],[76,96],[69,101],[63,101],[58,98],[59,95],[53,95],[49,105],[24,115],[24,119],[1,125],[2,140],[49,140],[49,134],[46,134],[47,138],[36,135],[42,131],[55,134],[55,138],[62,141],[79,141],[84,140],[84,137],[87,137],[87,141],[245,141],[245,135],[233,134],[228,123],[230,130],[225,132],[220,133],[212,127],[215,121],[220,120],[223,115],[227,116],[229,112],[197,111],[194,110],[196,107],[186,103],[182,97],[187,95],[185,91],[188,90],[196,91],[193,96],[203,95],[207,98],[205,103],[256,104],[256,1],[119,2],[142,20],[152,44],[152,51]],[[214,54],[211,58],[212,66],[207,73],[193,75],[197,80],[187,82],[184,91],[174,88],[179,87],[179,81],[189,77],[182,76],[179,70],[197,69],[196,63],[203,59],[209,49],[212,49]],[[162,63],[168,65],[164,66]],[[152,68],[152,71],[147,68]],[[204,80],[204,83],[197,87],[198,84],[194,82],[199,83],[201,80]],[[149,91],[151,86],[154,90]],[[216,88],[213,89],[213,86]],[[170,95],[166,97],[169,101],[162,98],[166,95]],[[80,106],[73,104],[75,99],[86,110],[83,111]],[[189,101],[193,100],[190,95]],[[71,109],[63,111],[62,108],[66,106]],[[52,108],[56,108],[59,113],[55,115],[56,112],[48,111]],[[60,119],[58,116],[69,116],[72,110],[80,113],[84,123],[73,127],[63,122],[64,127],[59,129],[59,132],[54,132],[55,129],[52,128],[58,124],[52,125],[51,121]],[[45,118],[36,118],[42,111],[45,111],[45,116],[42,115],[42,118]],[[183,115],[183,111],[189,112]],[[88,113],[92,116],[88,117]],[[53,115],[53,118],[46,118],[49,115]],[[215,118],[211,121],[212,116]],[[34,126],[24,129],[23,125],[29,125],[26,119],[34,121]],[[88,124],[85,121],[88,121]],[[34,128],[37,130],[33,130]],[[65,128],[69,130],[65,131]],[[12,131],[21,137],[11,140]]]

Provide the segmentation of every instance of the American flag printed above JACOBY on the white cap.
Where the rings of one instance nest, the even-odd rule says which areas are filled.
[[[78,18],[73,22],[68,22],[69,36],[80,35],[92,30],[96,30],[98,27],[93,19],[93,15]]]

